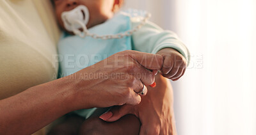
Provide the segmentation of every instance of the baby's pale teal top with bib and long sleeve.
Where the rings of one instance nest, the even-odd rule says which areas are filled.
[[[97,35],[115,35],[136,28],[141,21],[141,13],[136,10],[117,13],[112,19],[88,29]],[[137,14],[134,17],[134,14]],[[135,50],[156,54],[163,48],[170,47],[179,51],[189,62],[189,51],[172,31],[165,31],[152,22],[121,39],[102,40],[86,36],[63,33],[58,44],[60,54],[61,77],[73,74],[83,68],[108,58],[116,52]],[[95,109],[77,111],[79,115],[88,117]]]

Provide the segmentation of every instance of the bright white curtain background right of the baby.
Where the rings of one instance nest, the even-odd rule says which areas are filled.
[[[191,64],[173,84],[180,135],[256,134],[256,1],[127,0],[175,31]]]

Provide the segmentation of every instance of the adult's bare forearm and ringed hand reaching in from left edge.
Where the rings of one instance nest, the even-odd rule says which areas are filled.
[[[141,60],[145,56],[146,59]],[[150,61],[153,61],[152,65],[145,65]],[[154,75],[146,68],[159,70],[162,65],[163,56],[160,55],[137,51],[118,52],[75,74],[0,100],[0,134],[32,134],[56,118],[77,109],[139,104],[141,96],[136,91],[142,87],[138,84],[143,82],[149,85],[154,82]],[[127,79],[113,77],[113,73],[120,72],[129,77],[129,83]],[[146,77],[136,77],[134,73],[138,72],[144,73]],[[106,77],[81,77],[90,73],[105,74]]]

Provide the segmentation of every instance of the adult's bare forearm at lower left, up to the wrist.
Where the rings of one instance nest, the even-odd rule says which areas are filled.
[[[58,79],[0,101],[0,134],[31,134],[75,109],[72,83]]]

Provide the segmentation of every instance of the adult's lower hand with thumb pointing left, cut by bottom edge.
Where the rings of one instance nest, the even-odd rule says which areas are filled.
[[[113,107],[100,118],[115,122],[127,114],[140,118],[140,134],[177,134],[173,113],[173,93],[170,82],[161,75],[156,76],[157,86],[148,87],[148,94],[142,97],[137,106],[125,105]],[[111,116],[109,118],[109,116]]]

